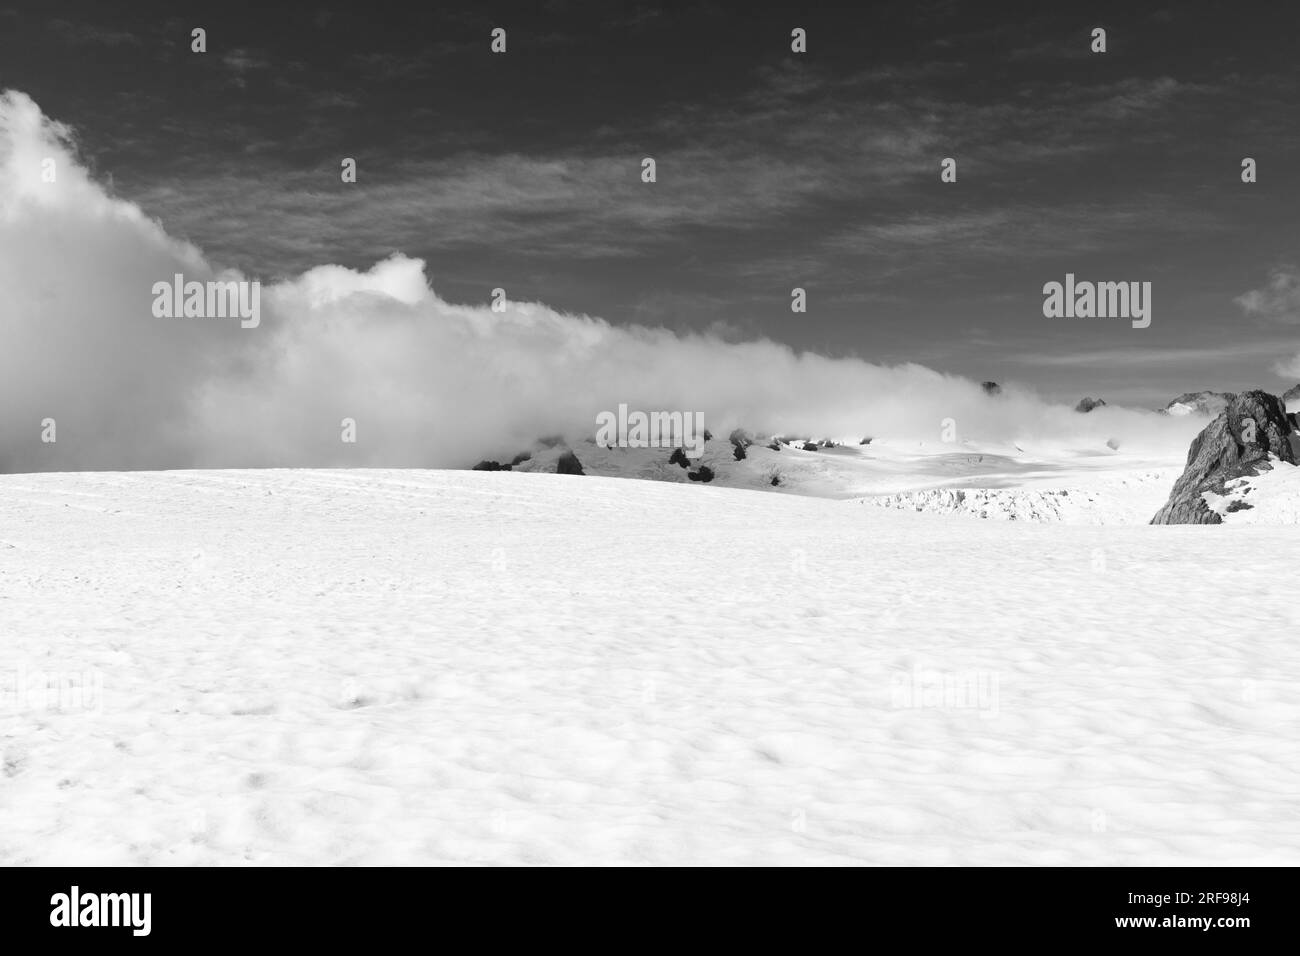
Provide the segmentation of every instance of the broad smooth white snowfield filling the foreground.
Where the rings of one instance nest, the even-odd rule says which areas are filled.
[[[0,865],[1295,865],[1297,563],[698,484],[4,476]]]

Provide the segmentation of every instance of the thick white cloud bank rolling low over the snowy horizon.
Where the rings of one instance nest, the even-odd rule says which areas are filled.
[[[52,161],[52,165],[51,165]],[[48,170],[55,170],[53,182]],[[155,282],[254,278],[208,261],[78,164],[72,134],[0,95],[0,471],[463,467],[598,412],[702,411],[724,433],[962,437],[1180,454],[1197,423],[1078,415],[920,365],[615,326],[538,303],[455,304],[402,255],[264,286],[256,329],[160,319]],[[55,442],[42,423],[56,421]],[[341,441],[343,419],[356,442]]]

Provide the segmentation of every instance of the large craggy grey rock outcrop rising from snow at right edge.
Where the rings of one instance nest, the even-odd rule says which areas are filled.
[[[1223,519],[1205,503],[1205,492],[1223,493],[1223,485],[1243,475],[1271,468],[1269,455],[1296,464],[1291,441],[1294,427],[1282,401],[1268,392],[1235,395],[1187,451],[1187,467],[1174,483],[1169,501],[1152,524],[1218,524]]]

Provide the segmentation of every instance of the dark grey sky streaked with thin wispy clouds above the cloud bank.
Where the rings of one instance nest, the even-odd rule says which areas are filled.
[[[268,7],[10,4],[0,87],[265,278],[400,251],[451,300],[503,286],[1071,401],[1300,380],[1292,4]],[[1045,319],[1066,272],[1150,281],[1152,326]]]

